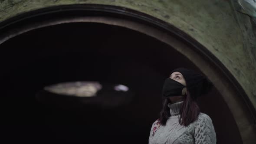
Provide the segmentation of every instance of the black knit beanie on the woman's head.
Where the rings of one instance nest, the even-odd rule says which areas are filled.
[[[213,84],[207,77],[185,68],[174,69],[173,72],[180,72],[187,83],[187,90],[194,99],[210,92]]]

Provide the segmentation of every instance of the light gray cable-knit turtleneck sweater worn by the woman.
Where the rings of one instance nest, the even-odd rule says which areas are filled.
[[[201,113],[188,126],[179,124],[179,111],[183,101],[168,104],[171,117],[163,126],[159,121],[152,124],[149,144],[216,144],[216,133],[211,118]]]

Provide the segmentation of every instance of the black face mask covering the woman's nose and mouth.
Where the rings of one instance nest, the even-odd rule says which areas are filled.
[[[167,78],[164,82],[163,97],[168,98],[172,96],[180,96],[182,95],[182,90],[184,87],[186,86],[182,85],[180,82]]]

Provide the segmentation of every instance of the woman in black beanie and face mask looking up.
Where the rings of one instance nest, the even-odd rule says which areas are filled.
[[[192,70],[173,70],[164,82],[163,109],[152,124],[149,144],[216,144],[212,120],[196,103],[211,87],[206,77]]]

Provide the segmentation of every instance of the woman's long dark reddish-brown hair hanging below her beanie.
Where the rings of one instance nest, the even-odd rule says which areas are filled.
[[[164,98],[163,108],[160,112],[159,118],[160,124],[162,125],[165,125],[166,121],[171,116],[168,103],[171,103],[171,100],[169,98]],[[190,96],[189,92],[187,92],[183,104],[181,105],[179,123],[181,125],[187,126],[197,119],[199,113],[200,108],[197,105],[196,100]]]

